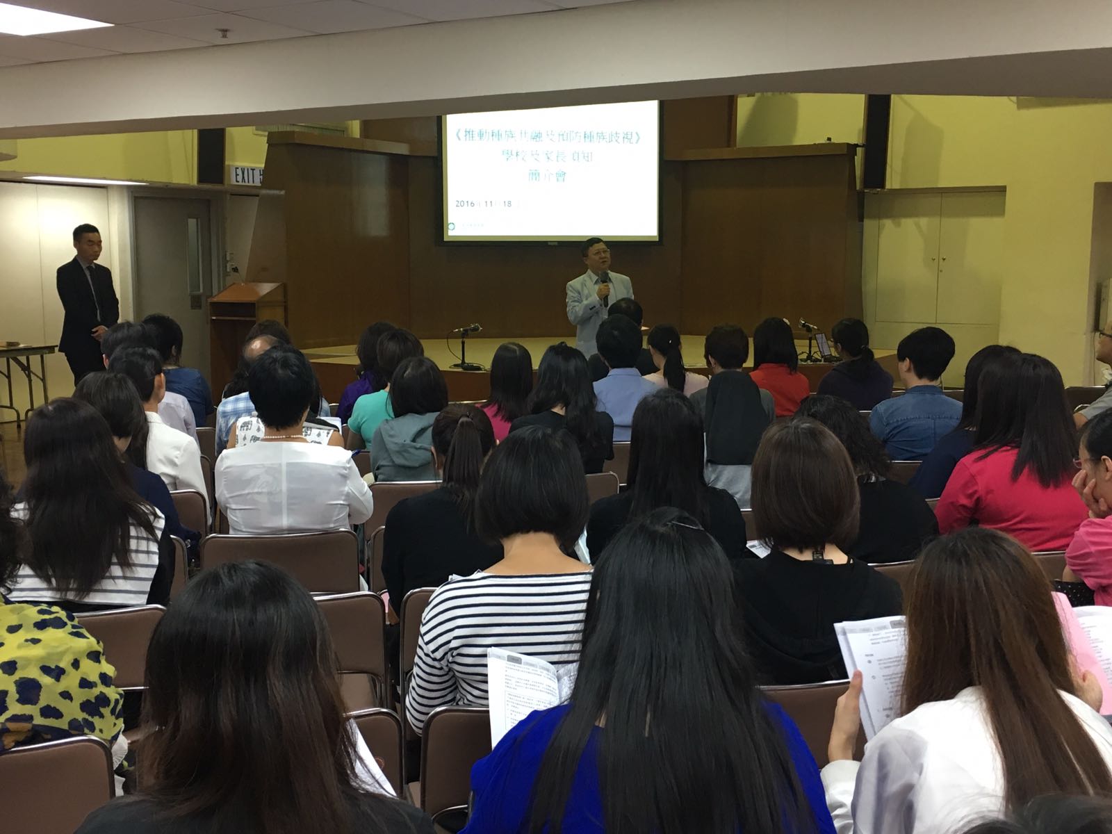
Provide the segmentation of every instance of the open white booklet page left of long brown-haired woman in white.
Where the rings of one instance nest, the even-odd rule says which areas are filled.
[[[861,669],[861,726],[872,739],[900,714],[907,628],[903,617],[836,623],[834,633],[851,675]]]

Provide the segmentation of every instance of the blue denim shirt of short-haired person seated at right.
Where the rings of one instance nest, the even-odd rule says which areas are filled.
[[[902,397],[873,406],[868,427],[893,460],[922,460],[943,435],[954,430],[962,404],[933,385],[916,385]]]

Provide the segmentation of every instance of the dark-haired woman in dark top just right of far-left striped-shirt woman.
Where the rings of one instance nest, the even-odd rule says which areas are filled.
[[[131,380],[110,370],[87,374],[77,384],[73,399],[88,403],[108,423],[116,448],[128,468],[131,488],[162,514],[167,533],[187,545],[196,545],[200,540],[200,530],[182,526],[170,490],[158,475],[147,470],[147,416]]]

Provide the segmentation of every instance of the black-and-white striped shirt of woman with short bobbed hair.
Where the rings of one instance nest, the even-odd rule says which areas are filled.
[[[475,573],[441,585],[420,622],[406,715],[420,733],[439,706],[487,706],[487,649],[554,666],[579,659],[590,572],[504,576]]]

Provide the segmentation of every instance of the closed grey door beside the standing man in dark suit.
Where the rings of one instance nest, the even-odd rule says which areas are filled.
[[[136,318],[151,312],[171,316],[181,325],[181,365],[197,368],[208,379],[209,201],[136,197],[135,226]]]

